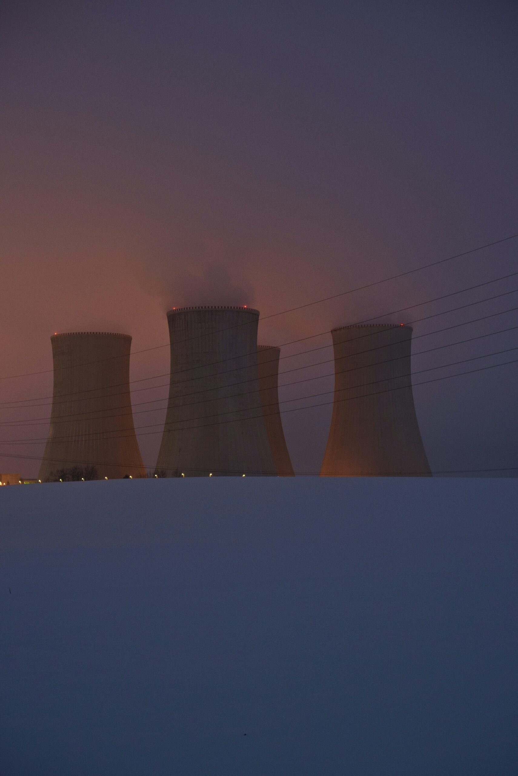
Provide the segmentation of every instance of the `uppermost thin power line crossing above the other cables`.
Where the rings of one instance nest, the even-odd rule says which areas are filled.
[[[333,294],[332,296],[325,296],[322,299],[314,300],[313,302],[307,302],[305,304],[298,305],[297,307],[291,307],[288,310],[280,310],[278,313],[271,313],[270,315],[264,315],[262,317],[259,317],[259,320],[268,320],[269,318],[275,318],[275,317],[278,317],[280,315],[286,315],[288,313],[293,313],[296,310],[304,310],[306,307],[313,307],[316,304],[321,304],[323,302],[329,302],[330,300],[338,299],[341,296],[347,296],[348,294],[356,293],[357,291],[364,291],[365,289],[373,288],[374,286],[379,286],[382,283],[390,282],[392,280],[397,280],[399,278],[405,277],[406,275],[412,275],[414,272],[420,272],[423,269],[429,269],[430,267],[436,267],[436,266],[445,264],[446,262],[452,262],[456,258],[462,258],[464,256],[471,255],[471,254],[476,253],[478,251],[483,251],[483,250],[485,250],[485,248],[492,248],[495,245],[499,245],[499,244],[502,244],[504,242],[508,242],[509,240],[514,240],[514,239],[516,239],[516,237],[518,237],[518,233],[510,234],[508,237],[502,237],[499,240],[496,240],[496,241],[493,241],[493,242],[490,242],[490,243],[486,243],[484,245],[478,245],[476,248],[470,248],[468,251],[462,251],[461,253],[454,254],[452,256],[447,256],[446,258],[438,259],[435,262],[430,262],[429,264],[424,264],[424,265],[421,265],[420,267],[414,267],[413,269],[407,269],[405,272],[399,272],[397,275],[390,275],[387,278],[382,278],[381,280],[375,280],[373,282],[366,283],[366,284],[364,284],[364,286],[357,286],[354,289],[347,289],[346,291],[341,291],[340,293]],[[230,331],[230,329],[235,329],[235,328],[239,328],[241,326],[249,326],[249,325],[250,325],[250,322],[247,321],[246,323],[243,323],[243,324],[236,324],[234,326],[230,326],[230,327],[226,327],[224,329],[220,329],[219,332]],[[199,334],[196,337],[191,337],[191,338],[187,338],[185,340],[182,340],[182,342],[191,341],[192,339],[198,339],[200,336],[206,336],[206,335]],[[150,352],[150,351],[153,351],[153,350],[158,350],[160,348],[168,348],[168,347],[170,347],[170,343],[169,342],[164,343],[164,345],[154,345],[151,348],[143,348],[142,350],[135,351],[133,353],[133,355],[138,355],[140,353],[147,353],[147,352]],[[96,361],[84,362],[82,364],[74,364],[71,367],[63,367],[62,369],[74,369],[75,367],[78,367],[78,366],[87,366],[87,365],[97,364],[99,362],[110,361],[112,359],[119,359],[119,358],[123,358],[123,356],[109,356],[109,358],[107,358],[107,359],[97,359]],[[40,372],[25,372],[25,373],[18,374],[18,375],[5,375],[3,377],[0,377],[0,379],[6,380],[6,379],[16,379],[16,378],[20,378],[20,377],[32,377],[32,376],[36,376],[36,375],[48,374],[50,372],[54,372],[54,369],[42,369],[42,370],[40,370]]]

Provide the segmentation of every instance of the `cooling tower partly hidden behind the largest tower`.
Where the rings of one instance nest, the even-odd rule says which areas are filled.
[[[293,477],[292,462],[282,428],[278,397],[279,355],[281,348],[257,345],[257,375],[264,423],[270,440],[271,455],[280,477]]]

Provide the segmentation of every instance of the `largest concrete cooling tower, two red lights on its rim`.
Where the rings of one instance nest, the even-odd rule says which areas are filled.
[[[257,379],[258,310],[169,310],[171,385],[157,459],[166,476],[275,476]]]

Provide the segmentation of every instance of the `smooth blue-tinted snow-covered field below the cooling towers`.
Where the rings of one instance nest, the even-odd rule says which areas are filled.
[[[2,488],[0,773],[516,774],[517,503],[449,478]]]

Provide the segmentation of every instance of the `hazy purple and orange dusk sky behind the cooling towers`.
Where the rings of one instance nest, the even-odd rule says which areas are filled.
[[[9,4],[5,4],[9,5]],[[0,16],[2,440],[44,439],[50,335],[121,331],[168,345],[166,310],[248,304],[268,316],[518,232],[513,2],[19,2]],[[331,327],[414,325],[413,370],[518,348],[518,239],[260,324],[287,345],[283,423],[317,472],[333,395]],[[437,329],[506,314],[430,334]],[[421,336],[426,334],[427,336]],[[414,383],[518,359],[518,349]],[[313,367],[309,365],[314,365]],[[152,469],[168,347],[136,354]],[[516,363],[414,389],[435,471],[518,466]],[[142,387],[137,383],[136,387]],[[6,409],[13,400],[38,406]],[[147,407],[159,407],[143,412]],[[23,425],[33,421],[30,425]],[[138,428],[142,427],[140,432]],[[36,476],[43,443],[2,442]],[[9,456],[9,457],[5,457]],[[20,457],[29,456],[29,457]],[[516,476],[514,472],[509,472]]]

